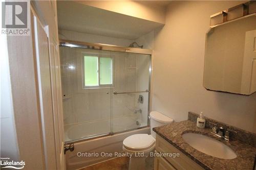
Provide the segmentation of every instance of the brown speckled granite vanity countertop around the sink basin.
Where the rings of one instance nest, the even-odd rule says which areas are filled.
[[[256,148],[250,144],[242,143],[238,140],[226,141],[210,133],[210,129],[200,129],[196,123],[191,120],[185,120],[173,124],[168,124],[161,127],[153,128],[153,130],[180,150],[183,154],[194,160],[197,164],[205,169],[243,169],[252,170]],[[215,138],[230,147],[236,154],[237,158],[234,159],[221,159],[213,156],[206,155],[186,143],[182,135],[184,133],[199,133],[212,138]]]

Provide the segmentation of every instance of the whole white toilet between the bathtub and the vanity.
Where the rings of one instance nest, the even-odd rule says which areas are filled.
[[[123,140],[123,151],[132,154],[129,162],[129,170],[145,169],[145,159],[150,152],[154,152],[156,145],[156,133],[154,127],[173,123],[174,120],[164,114],[152,111],[150,113],[151,135],[135,134]]]

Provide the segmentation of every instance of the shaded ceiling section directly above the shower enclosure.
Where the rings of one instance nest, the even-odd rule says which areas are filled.
[[[160,1],[158,5],[166,5]],[[152,1],[151,3],[156,3]],[[58,28],[116,38],[136,39],[161,23],[107,11],[72,1],[57,1]]]

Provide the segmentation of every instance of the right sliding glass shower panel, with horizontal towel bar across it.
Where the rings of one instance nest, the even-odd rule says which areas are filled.
[[[151,56],[111,52],[115,86],[111,96],[112,132],[147,126]]]

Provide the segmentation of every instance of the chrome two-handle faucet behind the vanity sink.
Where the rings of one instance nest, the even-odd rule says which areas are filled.
[[[222,126],[217,127],[217,124],[215,124],[215,123],[210,122],[210,124],[213,125],[212,128],[211,128],[211,132],[210,132],[211,134],[214,134],[215,136],[221,137],[221,138],[223,138],[225,140],[228,140],[228,141],[229,141],[229,133],[230,132],[232,132],[234,134],[238,133],[238,132],[233,131],[229,128],[225,129]]]

